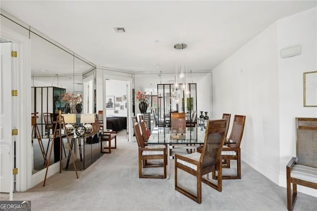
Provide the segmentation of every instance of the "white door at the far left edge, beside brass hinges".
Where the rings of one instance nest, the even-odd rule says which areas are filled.
[[[0,59],[0,192],[12,191],[11,43],[1,43]]]

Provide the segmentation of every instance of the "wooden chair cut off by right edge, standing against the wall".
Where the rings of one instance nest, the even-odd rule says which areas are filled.
[[[317,118],[295,118],[296,158],[286,165],[287,210],[297,199],[297,185],[317,189]],[[291,188],[293,186],[293,190]]]

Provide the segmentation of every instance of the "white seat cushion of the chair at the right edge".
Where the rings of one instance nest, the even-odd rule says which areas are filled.
[[[291,177],[317,183],[317,168],[295,164],[291,171]]]

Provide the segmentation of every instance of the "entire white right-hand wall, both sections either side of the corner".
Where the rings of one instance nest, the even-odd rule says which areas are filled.
[[[212,71],[213,115],[247,116],[242,160],[284,187],[286,164],[296,155],[294,118],[317,114],[303,107],[303,72],[317,68],[316,10],[273,23]],[[282,59],[280,50],[294,45],[302,54]]]

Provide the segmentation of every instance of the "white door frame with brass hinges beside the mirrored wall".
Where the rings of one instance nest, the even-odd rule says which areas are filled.
[[[12,89],[18,90],[14,99],[16,110],[12,110],[12,127],[18,129],[16,141],[16,167],[18,174],[15,177],[15,190],[26,191],[30,188],[32,177],[32,145],[31,145],[31,41],[3,25],[0,36],[14,43],[18,50],[15,62],[16,71],[12,73]],[[8,99],[11,100],[11,99]],[[13,139],[13,137],[12,137]]]

